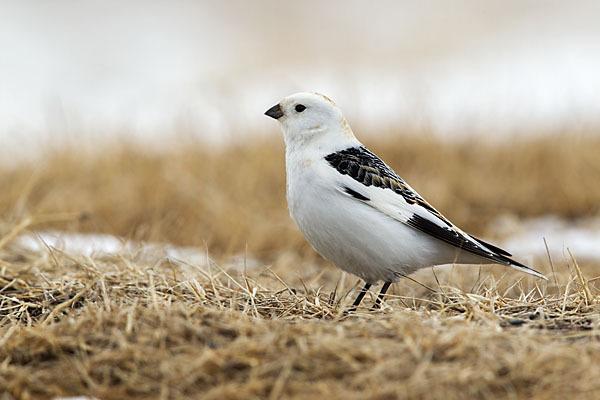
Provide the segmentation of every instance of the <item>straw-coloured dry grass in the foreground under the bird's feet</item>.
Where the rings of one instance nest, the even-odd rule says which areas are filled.
[[[1,257],[0,389],[17,398],[591,398],[600,390],[600,293],[562,263],[558,287],[499,268],[481,277],[468,267],[422,271],[416,278],[433,291],[403,282],[383,311],[368,311],[371,296],[347,316],[355,279],[344,285],[337,271],[310,264],[300,275],[301,258],[244,274],[15,247]]]

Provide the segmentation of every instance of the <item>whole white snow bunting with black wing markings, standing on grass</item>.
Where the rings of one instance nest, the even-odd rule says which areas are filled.
[[[290,215],[312,247],[365,281],[442,264],[503,264],[547,279],[452,224],[354,136],[328,97],[297,93],[265,112],[281,124]]]

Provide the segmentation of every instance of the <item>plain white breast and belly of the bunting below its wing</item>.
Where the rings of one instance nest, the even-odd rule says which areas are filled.
[[[318,171],[288,174],[288,206],[313,248],[338,267],[369,283],[395,282],[457,259],[458,249],[345,196]]]

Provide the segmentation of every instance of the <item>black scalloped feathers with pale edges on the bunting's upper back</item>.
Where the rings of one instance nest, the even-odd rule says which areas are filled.
[[[418,204],[439,218],[447,226],[452,227],[450,221],[427,203],[418,193],[408,187],[406,182],[393,169],[388,167],[386,163],[381,161],[379,157],[371,153],[366,147],[349,147],[325,156],[325,160],[340,174],[348,175],[365,186],[393,190],[402,196],[407,203]]]

